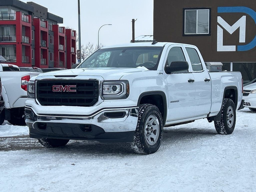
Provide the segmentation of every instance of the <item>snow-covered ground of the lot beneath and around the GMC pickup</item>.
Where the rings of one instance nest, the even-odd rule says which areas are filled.
[[[26,137],[28,127],[5,124],[0,191],[255,192],[256,113],[245,108],[236,118],[231,135],[216,134],[206,119],[165,128],[160,149],[150,155],[92,141],[44,148]]]

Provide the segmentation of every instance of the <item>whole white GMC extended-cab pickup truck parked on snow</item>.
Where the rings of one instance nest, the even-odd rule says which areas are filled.
[[[100,48],[76,69],[31,78],[25,116],[46,147],[131,142],[151,154],[164,127],[207,118],[231,134],[242,106],[240,72],[208,72],[196,46],[154,41]]]

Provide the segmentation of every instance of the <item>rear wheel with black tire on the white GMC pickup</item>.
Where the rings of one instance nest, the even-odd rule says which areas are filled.
[[[231,99],[225,98],[221,109],[221,120],[214,121],[218,134],[232,134],[236,126],[236,108]]]

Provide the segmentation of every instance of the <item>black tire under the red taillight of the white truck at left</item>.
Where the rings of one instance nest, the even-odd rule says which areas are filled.
[[[25,109],[13,108],[10,112],[10,120],[8,122],[12,125],[26,126],[25,122]]]

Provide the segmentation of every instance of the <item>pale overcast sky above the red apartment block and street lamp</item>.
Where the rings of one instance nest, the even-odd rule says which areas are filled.
[[[78,0],[22,0],[48,8],[48,12],[63,18],[60,26],[78,32]],[[81,44],[88,42],[104,46],[128,43],[132,39],[132,19],[135,37],[153,35],[153,0],[80,0]]]

